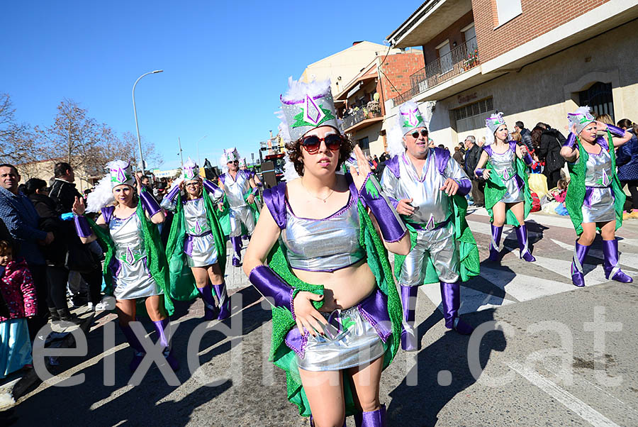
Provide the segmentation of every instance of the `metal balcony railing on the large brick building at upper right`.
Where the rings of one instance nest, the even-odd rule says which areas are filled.
[[[394,105],[403,104],[426,89],[457,77],[479,63],[476,37],[474,37],[410,75],[410,89],[393,98]]]

